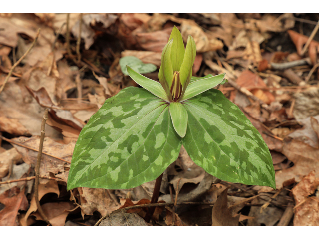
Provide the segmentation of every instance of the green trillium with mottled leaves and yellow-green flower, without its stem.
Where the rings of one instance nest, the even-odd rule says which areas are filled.
[[[229,182],[275,188],[266,143],[240,109],[219,90],[225,73],[194,78],[196,55],[174,27],[162,52],[159,82],[127,67],[143,88],[127,87],[107,99],[81,131],[67,189],[126,189],[152,181],[184,145],[207,173]]]

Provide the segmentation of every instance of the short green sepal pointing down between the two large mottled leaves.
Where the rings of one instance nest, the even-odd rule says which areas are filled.
[[[176,132],[180,137],[185,137],[187,130],[187,111],[185,107],[179,102],[171,102],[169,113]]]

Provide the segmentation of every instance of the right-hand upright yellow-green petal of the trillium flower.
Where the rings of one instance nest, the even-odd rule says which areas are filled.
[[[196,57],[196,44],[192,36],[189,35],[187,39],[184,60],[180,66],[180,82],[183,88],[187,87],[190,81],[195,57]]]

